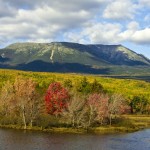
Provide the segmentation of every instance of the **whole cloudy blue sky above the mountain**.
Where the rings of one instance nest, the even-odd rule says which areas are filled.
[[[0,47],[122,44],[150,58],[150,0],[0,0]]]

